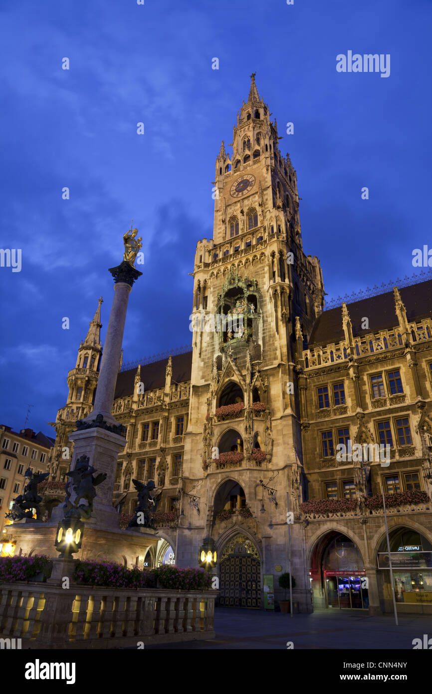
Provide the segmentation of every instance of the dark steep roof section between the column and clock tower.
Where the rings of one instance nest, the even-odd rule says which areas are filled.
[[[191,380],[192,371],[192,352],[178,354],[171,357],[173,364],[172,382],[185,383]],[[141,381],[144,383],[144,390],[154,390],[163,388],[165,385],[165,371],[167,359],[161,359],[160,362],[153,364],[141,364]],[[125,398],[132,395],[134,391],[135,374],[137,368],[121,371],[117,376],[116,389],[114,392],[115,398]]]

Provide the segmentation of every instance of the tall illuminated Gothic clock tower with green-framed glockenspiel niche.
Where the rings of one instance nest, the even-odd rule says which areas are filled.
[[[287,501],[295,518],[304,481],[295,356],[302,357],[324,303],[318,258],[302,249],[297,175],[270,116],[252,74],[232,153],[222,142],[216,158],[213,239],[198,242],[193,272],[182,482],[193,504],[184,505],[179,543],[184,564],[204,538],[214,542],[221,604],[230,604],[231,560],[242,543],[251,584],[261,586],[273,565],[287,570]],[[297,592],[308,609],[300,524],[291,538]]]

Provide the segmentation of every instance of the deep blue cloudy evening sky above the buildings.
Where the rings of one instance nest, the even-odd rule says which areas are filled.
[[[3,0],[0,247],[22,269],[0,268],[0,423],[22,428],[31,404],[27,425],[53,434],[132,217],[145,264],[125,361],[191,341],[188,272],[252,71],[279,134],[294,123],[279,145],[329,298],[411,275],[432,244],[431,21],[430,0]],[[349,50],[390,53],[390,76],[336,72]]]

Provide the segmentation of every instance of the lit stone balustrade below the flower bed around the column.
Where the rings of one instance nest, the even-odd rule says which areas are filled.
[[[0,584],[0,637],[22,648],[125,648],[214,638],[217,591]]]

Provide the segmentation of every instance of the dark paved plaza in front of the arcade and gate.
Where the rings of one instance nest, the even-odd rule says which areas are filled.
[[[412,650],[413,638],[432,636],[431,616],[369,617],[354,610],[289,615],[252,609],[216,608],[216,638],[148,645],[147,649],[401,649]]]

